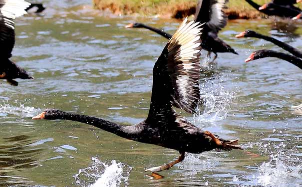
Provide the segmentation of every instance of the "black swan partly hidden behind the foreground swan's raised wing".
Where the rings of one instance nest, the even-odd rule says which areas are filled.
[[[225,43],[218,37],[218,32],[227,24],[227,16],[223,11],[226,7],[228,0],[199,0],[195,19],[197,22],[205,23],[203,25],[202,43],[203,49],[209,51],[208,56],[211,52],[215,54],[213,61],[217,58],[219,52],[231,52],[238,54],[230,45]],[[200,11],[202,10],[202,11]],[[131,23],[126,25],[126,28],[147,28],[152,30],[167,39],[171,38],[171,34],[168,34],[160,29],[151,27],[143,23]]]

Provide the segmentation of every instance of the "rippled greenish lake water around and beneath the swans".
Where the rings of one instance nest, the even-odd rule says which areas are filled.
[[[246,150],[187,154],[160,173],[164,179],[153,180],[144,170],[175,160],[177,151],[31,117],[57,108],[120,124],[142,121],[152,68],[167,40],[124,25],[140,21],[174,33],[179,22],[112,16],[91,9],[90,0],[43,2],[44,15],[17,19],[12,58],[35,79],[20,80],[18,87],[0,81],[0,186],[302,187],[302,118],[291,109],[302,103],[301,69],[276,58],[245,64],[256,49],[282,49],[235,38],[249,28],[302,49],[302,22],[229,21],[220,37],[240,55],[220,53],[207,65],[203,51],[205,106],[198,116],[182,115],[223,138],[239,138]]]

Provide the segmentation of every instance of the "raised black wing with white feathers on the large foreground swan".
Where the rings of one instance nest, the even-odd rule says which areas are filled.
[[[187,18],[165,46],[153,68],[153,86],[147,120],[168,123],[172,106],[195,113],[200,101],[201,24]]]

